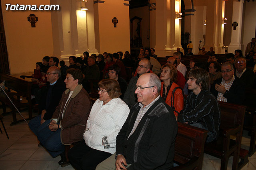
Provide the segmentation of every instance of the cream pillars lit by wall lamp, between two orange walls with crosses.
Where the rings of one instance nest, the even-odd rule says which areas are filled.
[[[94,36],[93,1],[86,2],[88,11],[80,10],[80,1],[51,0],[61,10],[52,11],[53,55],[68,61],[70,55],[80,56],[84,51],[97,53]]]

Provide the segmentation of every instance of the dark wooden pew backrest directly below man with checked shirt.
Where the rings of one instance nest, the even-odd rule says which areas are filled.
[[[220,127],[235,127],[236,125],[244,125],[244,112],[246,106],[236,105],[233,103],[220,103]]]

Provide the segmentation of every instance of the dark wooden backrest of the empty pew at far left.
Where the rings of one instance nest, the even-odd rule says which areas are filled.
[[[31,87],[32,82],[25,79],[20,79],[13,77],[8,74],[0,73],[0,80],[6,81],[5,87],[8,87],[8,90],[12,89],[18,93],[26,93],[26,96],[31,96]]]

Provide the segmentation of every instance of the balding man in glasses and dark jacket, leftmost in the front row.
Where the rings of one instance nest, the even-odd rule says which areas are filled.
[[[62,93],[66,90],[65,83],[62,81],[61,71],[58,67],[50,67],[46,72],[46,78],[49,84],[45,93],[39,101],[38,109],[41,115],[29,121],[28,125],[34,134],[37,134],[38,127],[45,121],[52,118],[55,108],[58,106]]]

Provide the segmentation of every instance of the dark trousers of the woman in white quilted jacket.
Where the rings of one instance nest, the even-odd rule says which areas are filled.
[[[84,140],[78,142],[68,152],[69,161],[76,170],[95,170],[100,162],[111,155],[108,152],[90,148]]]

